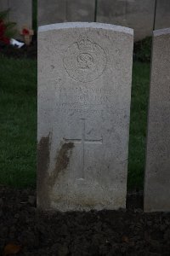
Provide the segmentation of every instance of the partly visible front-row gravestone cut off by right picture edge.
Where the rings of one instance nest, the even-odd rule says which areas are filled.
[[[153,36],[144,211],[170,211],[170,28]]]

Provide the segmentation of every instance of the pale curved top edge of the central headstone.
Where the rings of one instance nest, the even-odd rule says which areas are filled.
[[[55,23],[45,26],[39,26],[38,32],[46,32],[49,30],[59,30],[59,29],[68,29],[68,28],[96,28],[96,29],[106,29],[112,30],[115,32],[124,32],[127,34],[133,35],[133,29],[126,26],[116,26],[106,23],[98,22],[64,22],[64,23]]]

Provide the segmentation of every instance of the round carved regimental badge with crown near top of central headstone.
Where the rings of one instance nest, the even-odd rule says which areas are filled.
[[[72,79],[90,82],[105,71],[105,50],[87,37],[71,44],[65,52],[64,66]]]

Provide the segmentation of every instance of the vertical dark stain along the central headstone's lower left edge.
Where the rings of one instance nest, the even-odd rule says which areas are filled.
[[[48,166],[50,151],[50,133],[42,137],[37,145],[37,198],[38,207],[49,207]]]

